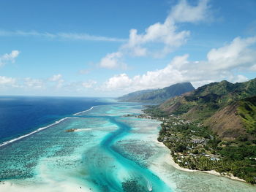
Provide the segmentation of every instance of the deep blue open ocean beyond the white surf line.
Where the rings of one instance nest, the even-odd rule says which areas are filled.
[[[97,98],[0,96],[0,144],[102,104]]]

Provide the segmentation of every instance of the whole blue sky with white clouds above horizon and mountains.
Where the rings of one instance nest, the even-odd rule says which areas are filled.
[[[121,96],[256,77],[255,0],[1,0],[0,95]]]

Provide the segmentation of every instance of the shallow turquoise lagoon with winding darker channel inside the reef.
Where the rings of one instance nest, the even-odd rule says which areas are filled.
[[[8,191],[255,191],[206,173],[183,172],[157,142],[160,122],[141,104],[114,103],[72,115],[0,148],[0,189]],[[77,128],[75,132],[66,132]],[[11,185],[10,185],[11,183]]]

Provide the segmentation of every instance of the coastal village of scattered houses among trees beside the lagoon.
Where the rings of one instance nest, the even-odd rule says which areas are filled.
[[[195,124],[190,120],[182,120],[176,115],[154,118],[151,115],[143,114],[138,115],[138,118],[157,119],[163,122],[158,141],[170,148],[173,159],[179,166],[209,170],[207,168],[209,164],[214,166],[215,161],[221,160],[221,156],[214,154],[214,150],[207,146],[211,139],[214,140],[214,136],[205,131],[199,131],[198,129],[203,126],[200,123]],[[202,161],[208,166],[198,166]]]

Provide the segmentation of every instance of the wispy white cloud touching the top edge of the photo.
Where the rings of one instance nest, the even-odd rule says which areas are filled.
[[[189,5],[186,0],[171,9],[170,18],[176,22],[197,23],[211,18],[208,0],[200,0],[197,6]]]

